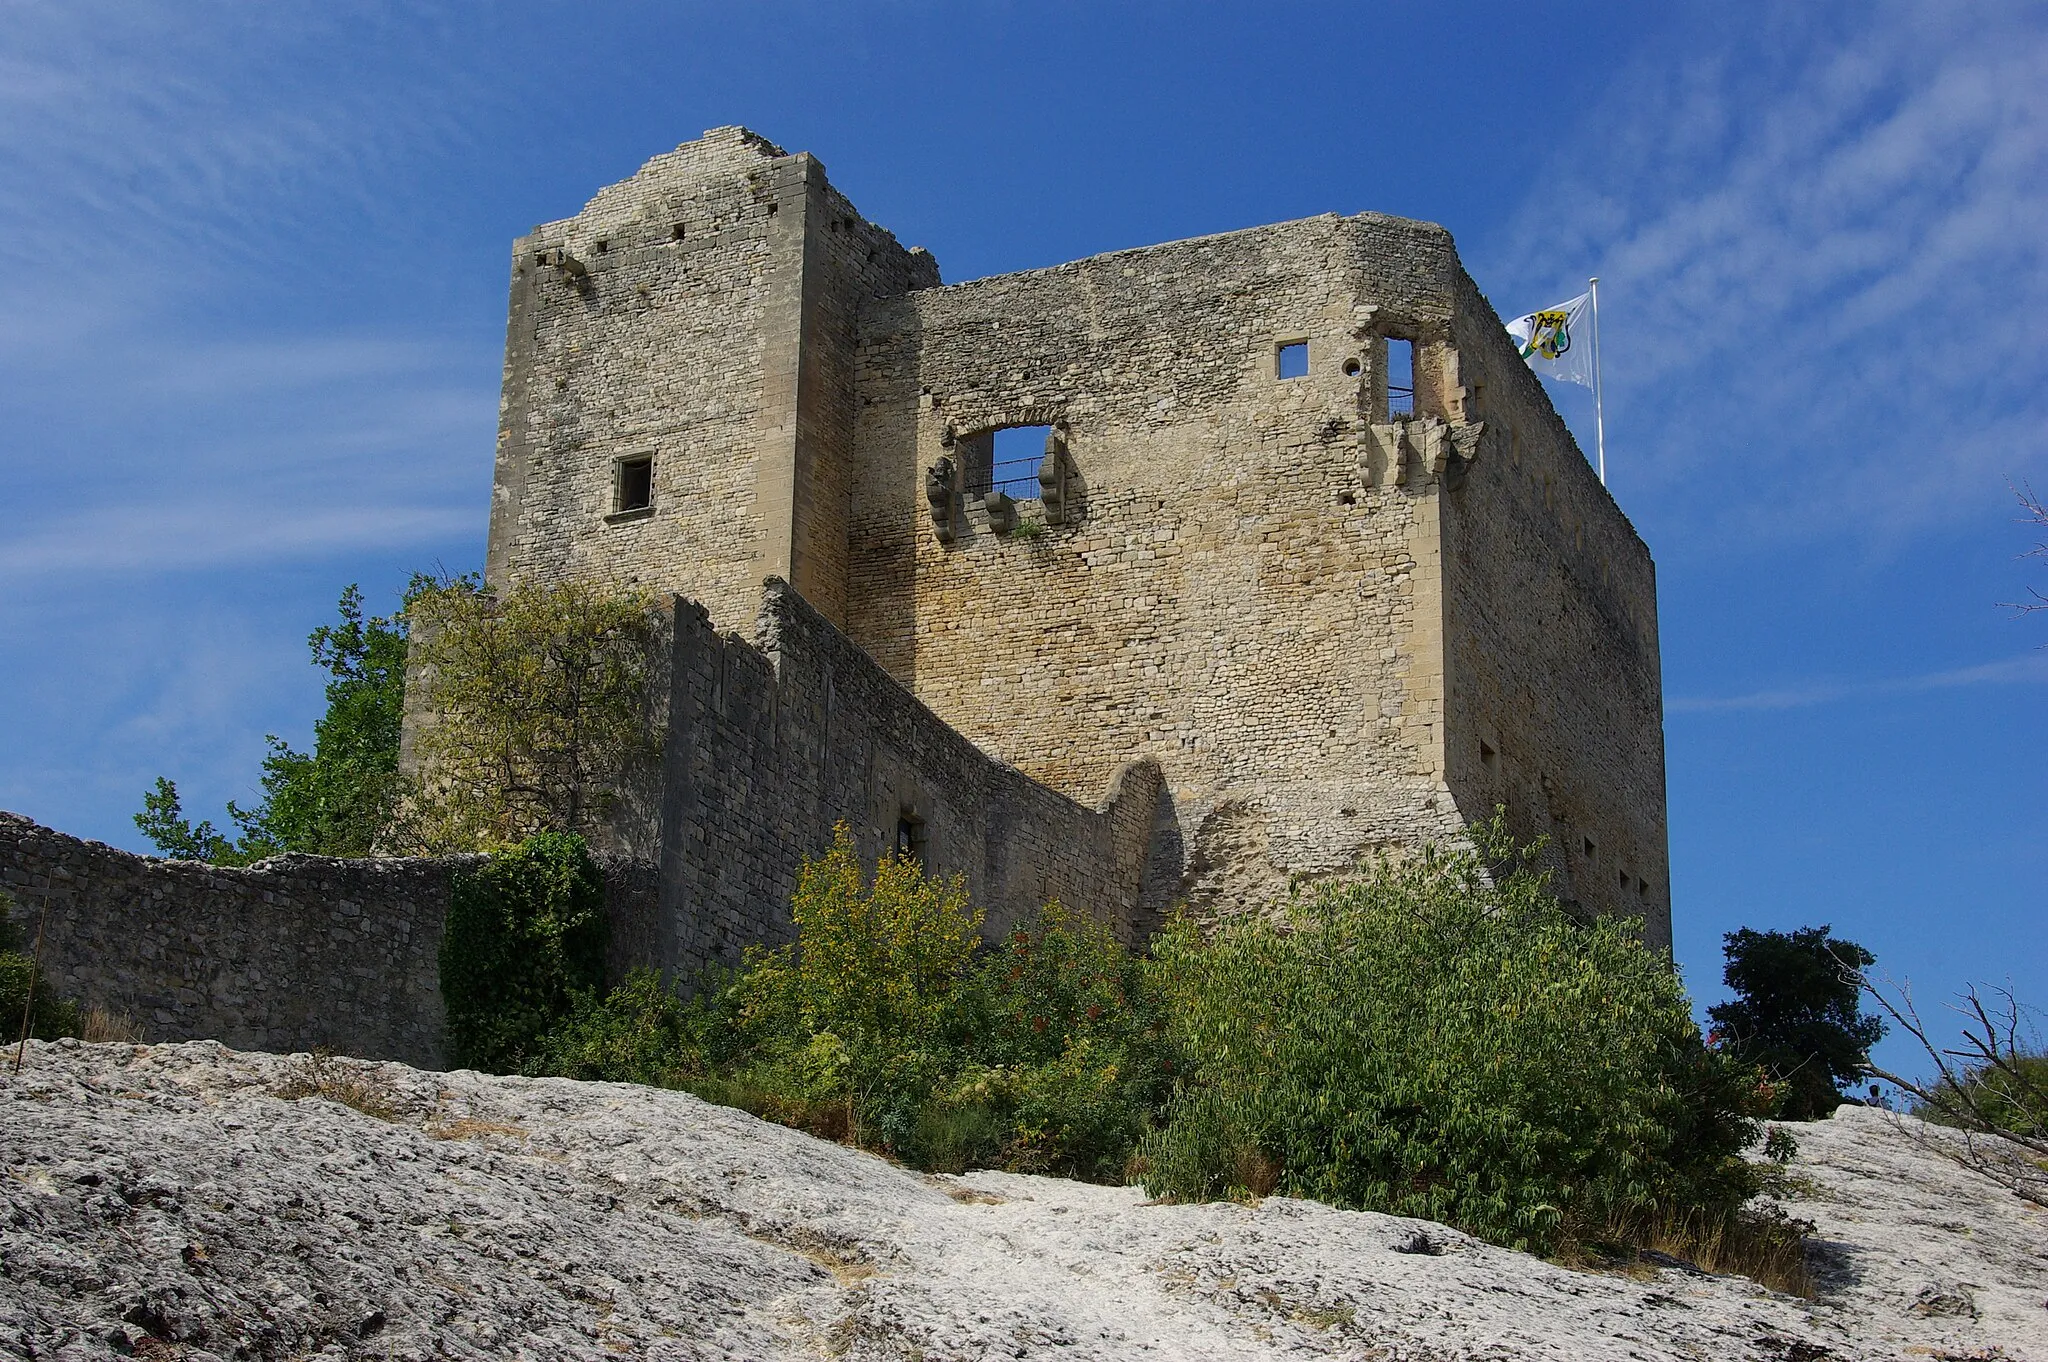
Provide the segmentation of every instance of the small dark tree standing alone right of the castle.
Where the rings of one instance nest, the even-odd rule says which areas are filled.
[[[1722,936],[1735,997],[1706,1010],[1718,1045],[1782,1086],[1778,1114],[1819,1120],[1870,1061],[1884,1020],[1862,1014],[1862,971],[1876,956],[1829,928]]]

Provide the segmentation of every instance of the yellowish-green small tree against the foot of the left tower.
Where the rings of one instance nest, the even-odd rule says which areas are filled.
[[[492,592],[457,580],[416,594],[428,774],[393,842],[487,850],[602,819],[662,743],[647,709],[651,604],[584,584]]]

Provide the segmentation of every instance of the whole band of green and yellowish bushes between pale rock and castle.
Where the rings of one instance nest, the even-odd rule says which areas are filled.
[[[1432,850],[1286,922],[1208,940],[1176,922],[1145,961],[1059,903],[977,954],[958,883],[907,860],[866,879],[842,827],[805,866],[791,946],[690,1002],[653,975],[586,999],[541,1067],[936,1172],[1282,1190],[1538,1251],[1681,1231],[1782,1247],[1739,1215],[1761,1071],[1700,1040],[1634,924],[1577,922],[1497,827],[1483,842],[1491,872]]]

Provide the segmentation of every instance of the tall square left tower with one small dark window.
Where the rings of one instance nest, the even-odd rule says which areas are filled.
[[[606,580],[745,627],[760,582],[844,584],[850,315],[938,283],[811,156],[727,127],[512,252],[485,576]],[[618,512],[614,467],[653,459]],[[795,563],[795,569],[793,569]]]

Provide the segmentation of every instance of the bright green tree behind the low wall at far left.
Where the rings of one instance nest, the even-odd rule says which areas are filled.
[[[410,606],[442,584],[416,576]],[[178,786],[158,776],[143,795],[135,825],[158,852],[178,860],[250,864],[279,852],[367,856],[391,823],[399,795],[397,741],[406,715],[406,612],[365,616],[362,592],[350,584],[336,606],[340,619],[307,637],[313,664],[326,668],[328,709],[313,723],[313,750],[297,752],[270,733],[262,762],[262,803],[227,803],[240,836],[211,821],[193,823]]]

